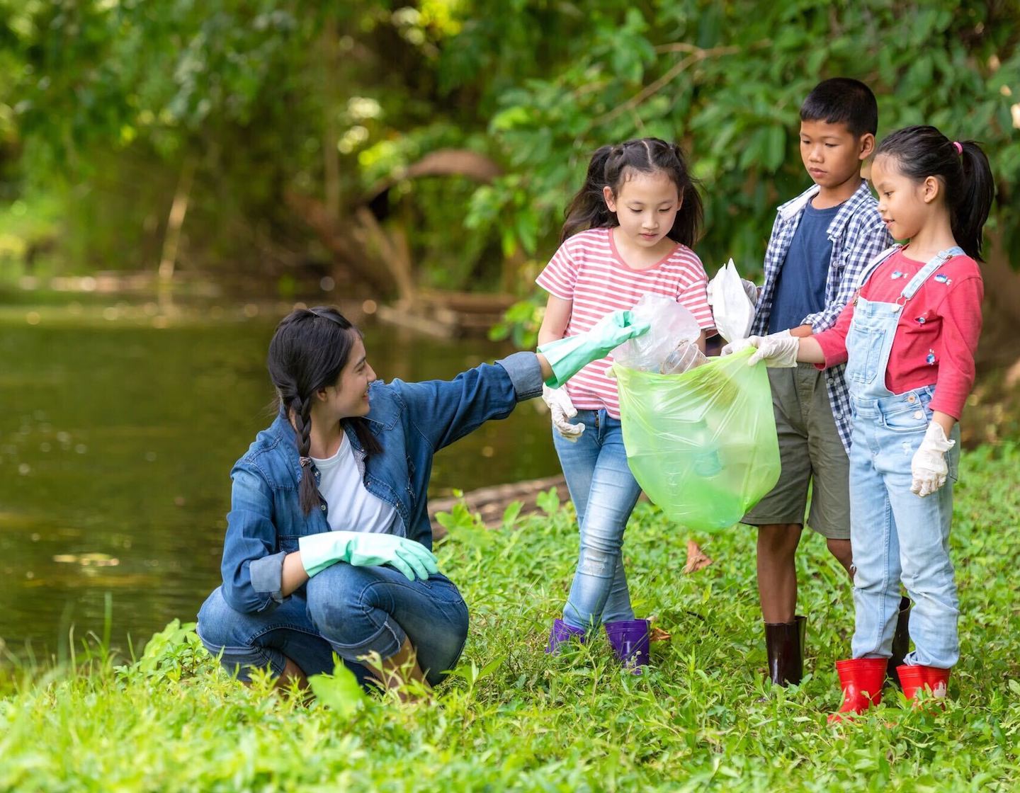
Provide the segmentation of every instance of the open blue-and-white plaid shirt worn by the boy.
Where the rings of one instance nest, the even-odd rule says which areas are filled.
[[[804,207],[818,191],[817,184],[812,186],[810,190],[793,201],[787,201],[776,210],[772,236],[765,251],[765,284],[758,298],[755,321],[751,326],[751,332],[755,335],[768,333],[768,319],[772,311],[779,271],[786,261],[786,253],[801,222]],[[861,187],[857,192],[839,207],[839,211],[829,223],[827,233],[832,242],[832,256],[829,259],[828,279],[825,282],[825,308],[815,314],[809,314],[801,321],[803,325],[811,325],[816,333],[835,324],[839,312],[864,283],[865,276],[871,271],[873,260],[892,244],[892,237],[889,236],[878,214],[878,202],[871,195],[864,179],[861,179]],[[847,382],[843,376],[845,368],[840,365],[826,369],[825,384],[835,425],[839,430],[839,438],[849,453],[851,415],[850,394],[847,392]]]

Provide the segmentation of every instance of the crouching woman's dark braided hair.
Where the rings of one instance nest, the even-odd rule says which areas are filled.
[[[266,365],[276,386],[276,400],[297,430],[295,442],[301,460],[301,509],[308,515],[319,505],[318,487],[312,476],[309,445],[311,409],[315,391],[335,385],[360,337],[358,330],[337,309],[320,306],[296,309],[276,325],[269,342]],[[344,419],[350,424],[366,455],[382,451],[367,422],[358,417]]]

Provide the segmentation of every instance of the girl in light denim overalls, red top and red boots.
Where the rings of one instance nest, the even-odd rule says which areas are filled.
[[[914,600],[915,649],[898,669],[907,698],[921,690],[945,696],[959,658],[949,558],[957,421],[974,381],[983,296],[977,261],[993,196],[978,146],[932,126],[882,141],[871,180],[892,237],[909,242],[876,259],[834,327],[800,340],[749,339],[759,349],[751,360],[768,366],[847,361],[856,627],[853,657],[836,662],[844,702],[832,722],[881,698],[901,581]]]

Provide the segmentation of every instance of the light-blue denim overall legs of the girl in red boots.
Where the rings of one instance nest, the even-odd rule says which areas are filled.
[[[888,657],[900,609],[900,582],[914,601],[908,664],[949,669],[960,656],[957,597],[949,554],[953,480],[960,430],[948,454],[950,477],[923,498],[910,491],[910,464],[931,420],[931,387],[854,399],[850,451],[851,544],[856,630],[853,656]]]

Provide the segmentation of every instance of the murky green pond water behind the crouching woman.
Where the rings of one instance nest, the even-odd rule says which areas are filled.
[[[0,645],[57,652],[102,632],[136,647],[195,619],[219,580],[232,464],[271,419],[265,351],[286,308],[0,307]],[[452,377],[509,348],[367,325],[379,377]],[[536,401],[541,405],[541,401]],[[549,476],[534,403],[436,458],[432,495]],[[75,639],[75,641],[78,641]]]

